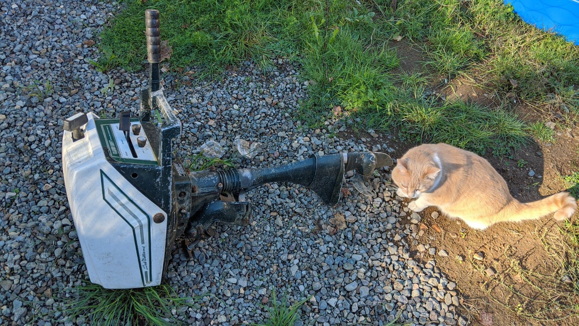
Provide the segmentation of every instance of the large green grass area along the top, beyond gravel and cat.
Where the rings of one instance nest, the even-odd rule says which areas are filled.
[[[243,60],[265,72],[274,57],[299,63],[311,82],[298,118],[312,128],[340,105],[357,128],[398,128],[403,139],[496,155],[552,135],[518,120],[506,104],[442,101],[427,91],[433,82],[477,71],[479,86],[498,90],[504,103],[566,113],[579,104],[579,47],[528,26],[499,0],[398,1],[396,10],[389,1],[126,1],[100,35],[97,68],[142,68],[146,8],[161,12],[175,70],[195,66],[203,77]],[[420,75],[396,70],[400,57],[389,44],[398,37],[423,49]]]

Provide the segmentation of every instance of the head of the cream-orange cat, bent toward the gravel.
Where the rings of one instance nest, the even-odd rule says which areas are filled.
[[[435,162],[407,157],[398,160],[392,170],[392,180],[398,186],[398,195],[417,198],[432,189],[439,173],[440,169]]]

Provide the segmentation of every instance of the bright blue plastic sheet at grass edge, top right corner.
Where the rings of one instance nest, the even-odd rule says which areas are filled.
[[[505,0],[527,24],[579,45],[579,0]]]

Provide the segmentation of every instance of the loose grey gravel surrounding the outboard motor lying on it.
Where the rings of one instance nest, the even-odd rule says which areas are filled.
[[[61,119],[80,111],[116,117],[134,110],[146,73],[105,74],[89,62],[99,57],[91,41],[98,42],[98,32],[119,10],[114,2],[15,0],[1,8],[1,324],[80,325],[85,318],[61,321],[65,313],[52,298],[65,298],[64,288],[88,280],[63,186]],[[379,140],[373,131],[368,139],[341,136],[347,121],[332,118],[319,129],[304,128],[294,113],[307,98],[307,82],[294,63],[273,63],[276,70],[267,76],[245,61],[220,81],[192,85],[167,74],[167,99],[183,124],[177,154],[197,154],[211,139],[228,153],[234,153],[234,139],[262,143],[254,157],[239,159],[240,166],[371,149],[366,143],[394,151],[388,137]],[[114,86],[104,94],[111,78]],[[32,95],[26,86],[36,79],[49,80],[54,91],[45,98]],[[399,322],[412,324],[464,324],[455,309],[456,284],[436,267],[436,248],[420,244],[421,215],[391,192],[389,178],[389,169],[381,169],[368,180],[376,198],[346,184],[350,194],[336,207],[294,184],[248,191],[254,204],[248,225],[218,226],[192,259],[177,249],[171,255],[168,282],[179,295],[219,298],[204,296],[185,322],[262,322],[267,313],[260,305],[276,289],[290,303],[312,296],[301,310],[303,324],[385,325],[398,314]],[[345,229],[336,231],[328,222],[336,213],[345,216]],[[419,252],[411,253],[411,246]]]

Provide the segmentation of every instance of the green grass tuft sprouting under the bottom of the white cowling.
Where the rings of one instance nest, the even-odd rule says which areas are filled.
[[[168,285],[105,289],[97,284],[87,284],[75,287],[73,291],[75,296],[65,301],[64,312],[69,320],[89,316],[94,325],[181,325],[185,323],[175,318],[171,309],[199,307],[195,303],[197,298],[179,298]]]

